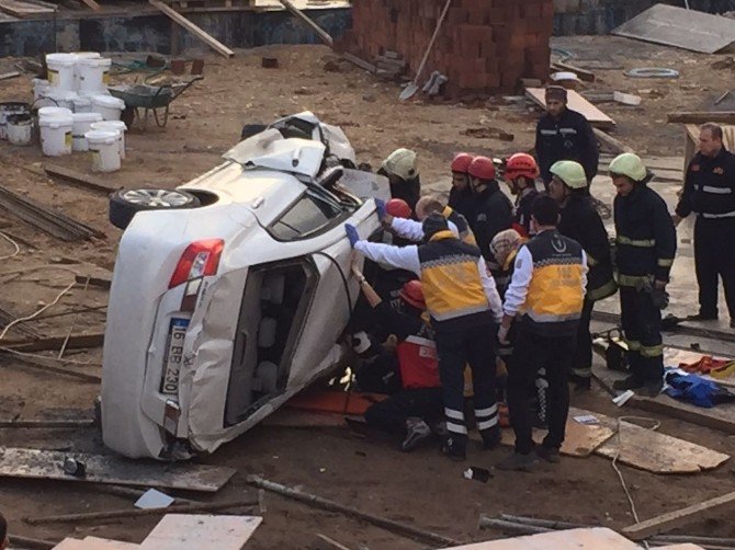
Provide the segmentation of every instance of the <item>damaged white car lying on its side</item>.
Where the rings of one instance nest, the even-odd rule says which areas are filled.
[[[371,234],[375,205],[358,195],[388,193],[341,165],[354,163],[343,136],[295,115],[178,190],[111,197],[125,232],[104,339],[105,445],[132,458],[211,452],[340,363],[359,294],[343,224]]]

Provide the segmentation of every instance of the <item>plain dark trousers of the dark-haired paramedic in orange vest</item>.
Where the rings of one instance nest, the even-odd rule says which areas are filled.
[[[533,413],[529,387],[540,369],[546,373],[549,434],[544,447],[561,448],[566,417],[569,412],[567,379],[577,345],[576,334],[542,336],[520,328],[513,348],[513,367],[508,376],[508,410],[516,433],[516,451],[528,455],[533,450]]]

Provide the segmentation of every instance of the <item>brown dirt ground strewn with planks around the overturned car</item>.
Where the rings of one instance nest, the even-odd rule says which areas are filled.
[[[732,70],[710,68],[712,62],[726,56],[697,55],[614,37],[564,38],[555,41],[554,46],[575,54],[570,62],[580,66],[586,62],[598,67],[599,62],[606,62],[625,69],[657,66],[681,72],[677,80],[636,80],[624,77],[621,69],[592,69],[598,80],[587,84],[587,90],[618,90],[643,98],[640,107],[613,103],[600,107],[618,122],[615,137],[645,154],[680,154],[683,150],[681,127],[666,125],[666,113],[701,106],[732,85]],[[276,57],[280,68],[261,68],[264,55]],[[145,59],[145,54],[138,57]],[[131,56],[125,58],[129,60]],[[397,147],[416,149],[425,190],[431,191],[449,190],[448,162],[456,151],[501,156],[533,145],[538,111],[532,107],[504,106],[499,99],[489,106],[485,101],[399,103],[399,89],[394,83],[378,82],[343,62],[332,64],[336,71],[327,71],[326,61],[336,58],[325,47],[268,47],[238,51],[231,60],[208,55],[205,59],[205,79],[172,104],[171,118],[165,129],[149,125],[145,131],[134,127],[128,133],[128,158],[122,170],[104,176],[111,185],[173,187],[215,165],[219,156],[238,140],[244,124],[269,123],[304,110],[341,126],[359,160],[373,167]],[[11,70],[13,60],[0,60],[0,72]],[[0,82],[0,100],[29,101],[30,80],[31,76],[24,76]],[[514,140],[496,141],[463,134],[467,128],[484,126],[511,133]],[[106,220],[105,196],[49,180],[43,172],[46,162],[82,172],[88,172],[91,163],[83,153],[48,160],[41,156],[37,147],[14,148],[3,142],[0,145],[0,181],[3,186],[93,226],[106,237],[92,242],[67,243],[0,210],[0,230],[21,247],[20,254],[0,263],[0,307],[19,317],[50,303],[72,280],[72,272],[95,275],[104,273],[100,270],[111,271],[121,236]],[[0,242],[0,256],[11,252],[11,247]],[[90,287],[84,291],[77,285],[47,313],[68,311],[81,305],[103,307],[105,302],[104,290]],[[66,335],[71,326],[75,332],[102,331],[104,309],[38,319],[26,325],[48,335]],[[22,334],[11,329],[5,340],[19,337]],[[69,351],[64,357],[70,362],[65,368],[100,374],[101,350]],[[95,383],[44,373],[7,354],[0,358],[0,420],[89,417],[98,391]],[[610,415],[620,414],[601,392],[575,396],[574,404]],[[735,452],[734,437],[678,421],[659,420],[663,421],[660,429],[667,434],[723,452]],[[103,451],[100,437],[91,428],[54,432],[0,428],[0,442],[8,446]],[[462,478],[466,466],[488,467],[505,452],[505,448],[490,452],[471,448],[467,463],[456,465],[440,457],[434,448],[405,455],[393,442],[358,437],[343,427],[258,426],[202,461],[238,470],[217,495],[218,500],[251,491],[246,484],[246,474],[262,473],[274,481],[298,485],[365,512],[412,523],[462,541],[499,535],[478,531],[480,513],[505,512],[611,527],[633,522],[610,461],[599,457],[565,459],[534,474],[497,474],[487,484]],[[732,488],[730,463],[698,475],[657,477],[627,467],[622,470],[643,518],[720,495]],[[317,532],[350,548],[426,548],[423,543],[361,522],[271,494],[267,503],[263,524],[248,548],[317,548]],[[138,542],[156,519],[36,528],[22,522],[29,516],[126,506],[129,500],[103,494],[83,483],[0,481],[0,509],[8,516],[12,531],[19,535],[50,540],[94,535]],[[686,531],[735,536],[732,520],[724,515],[689,526]]]

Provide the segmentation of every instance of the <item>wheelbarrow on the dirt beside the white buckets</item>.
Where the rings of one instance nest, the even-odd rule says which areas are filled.
[[[171,102],[181,95],[186,89],[204,77],[197,76],[186,82],[174,82],[162,85],[148,83],[126,84],[110,87],[110,94],[125,102],[123,122],[128,126],[137,119],[143,121],[143,128],[148,126],[148,114],[152,112],[156,125],[160,128],[166,126],[169,119],[169,107]],[[143,115],[140,114],[143,111]]]

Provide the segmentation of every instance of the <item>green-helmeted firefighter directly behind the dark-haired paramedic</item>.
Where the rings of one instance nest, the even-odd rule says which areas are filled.
[[[587,193],[587,176],[581,164],[561,160],[552,164],[551,173],[549,195],[562,209],[558,232],[581,244],[589,266],[577,353],[569,376],[577,390],[588,390],[592,379],[592,336],[589,332],[592,308],[596,301],[612,296],[618,289],[612,276],[610,239]]]

